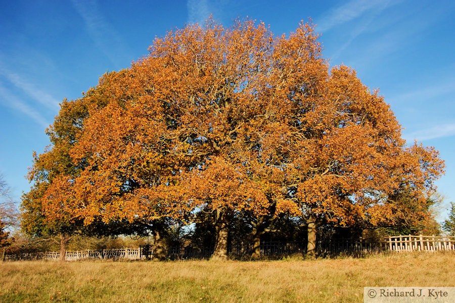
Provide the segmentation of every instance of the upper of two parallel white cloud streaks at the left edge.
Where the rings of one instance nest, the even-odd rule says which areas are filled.
[[[44,105],[45,107],[56,111],[59,107],[59,100],[54,98],[51,94],[44,92],[35,87],[32,83],[26,81],[24,77],[16,73],[12,73],[9,70],[2,68],[0,66],[0,75],[3,75],[10,83],[14,86],[28,94],[33,99],[37,100],[40,104]]]

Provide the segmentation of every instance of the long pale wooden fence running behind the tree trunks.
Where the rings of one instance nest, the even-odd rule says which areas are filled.
[[[84,259],[126,259],[139,260],[151,257],[149,246],[141,248],[120,248],[103,250],[67,251],[66,260],[76,261]],[[260,246],[262,256],[282,256],[304,254],[306,243],[303,242],[262,242]],[[329,242],[318,241],[316,251],[319,255],[340,254],[343,252],[381,253],[385,251],[455,251],[455,236],[389,236],[382,241],[373,239],[337,239]],[[251,245],[229,246],[232,256],[248,256],[252,253]],[[210,258],[213,247],[171,247],[166,251],[169,259],[203,259]],[[5,255],[4,261],[22,260],[58,260],[60,252],[48,251],[35,254]]]

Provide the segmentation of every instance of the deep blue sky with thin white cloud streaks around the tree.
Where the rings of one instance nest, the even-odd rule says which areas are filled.
[[[455,2],[441,1],[5,1],[0,0],[0,173],[20,199],[32,150],[63,98],[75,99],[106,71],[147,55],[153,39],[210,15],[230,26],[249,17],[276,35],[312,18],[324,57],[379,88],[408,141],[435,146],[438,182],[455,201]],[[446,217],[442,210],[439,220]]]

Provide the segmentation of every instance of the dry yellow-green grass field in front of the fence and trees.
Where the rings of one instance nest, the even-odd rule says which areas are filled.
[[[362,302],[364,286],[455,286],[455,254],[215,263],[0,263],[0,302]]]

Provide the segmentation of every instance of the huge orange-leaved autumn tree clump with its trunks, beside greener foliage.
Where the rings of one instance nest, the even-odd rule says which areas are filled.
[[[158,242],[165,218],[203,210],[213,259],[226,260],[234,216],[251,218],[257,256],[287,213],[306,220],[314,257],[318,225],[393,221],[399,192],[423,203],[442,173],[434,149],[405,146],[377,91],[329,69],[311,24],[274,37],[263,23],[209,20],[149,51],[90,91],[102,106],[87,105],[65,149],[77,171],[47,180],[46,220],[142,222]]]

